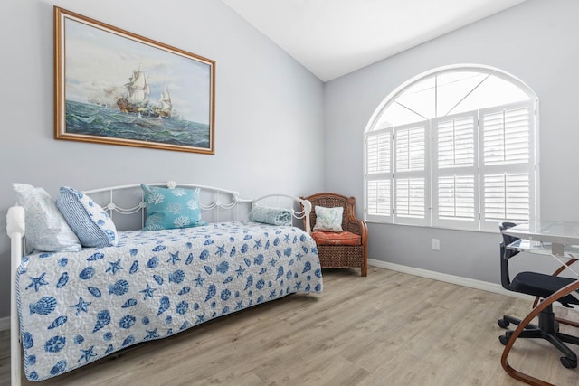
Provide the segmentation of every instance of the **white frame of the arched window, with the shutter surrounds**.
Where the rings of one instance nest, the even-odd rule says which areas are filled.
[[[506,104],[499,107],[491,107],[491,108],[479,108],[476,112],[460,112],[458,114],[449,115],[446,117],[437,117],[428,119],[422,122],[413,122],[411,124],[401,125],[400,127],[382,127],[376,128],[375,126],[378,124],[378,119],[381,118],[384,110],[390,106],[391,103],[394,103],[396,98],[403,94],[403,92],[412,87],[415,83],[420,82],[422,80],[426,80],[427,78],[431,78],[437,75],[440,75],[444,72],[482,72],[487,73],[490,75],[495,75],[503,80],[507,80],[512,85],[516,86],[521,91],[525,92],[528,96],[528,100],[522,102],[516,102],[514,104]],[[434,69],[432,71],[427,71],[422,73],[419,76],[414,77],[411,80],[408,80],[403,83],[399,88],[395,89],[386,99],[383,100],[380,106],[376,108],[375,113],[373,114],[372,118],[368,121],[368,124],[365,128],[364,132],[364,214],[365,220],[370,222],[383,222],[383,223],[393,223],[393,224],[403,224],[403,225],[419,225],[419,226],[426,226],[426,227],[435,227],[435,228],[447,228],[447,229],[459,229],[464,231],[497,231],[497,221],[485,221],[485,212],[484,212],[484,181],[482,180],[482,176],[485,171],[492,170],[493,167],[483,166],[483,159],[482,154],[479,154],[479,151],[482,153],[482,122],[480,121],[484,112],[489,110],[496,110],[497,108],[509,107],[511,105],[527,105],[528,107],[528,152],[529,158],[528,163],[524,167],[519,167],[520,170],[525,170],[524,173],[528,174],[528,195],[529,195],[529,202],[528,202],[528,220],[532,221],[538,218],[539,212],[539,194],[538,194],[538,186],[539,186],[539,175],[538,175],[538,99],[536,98],[536,94],[527,87],[527,85],[518,80],[516,77],[512,75],[500,71],[498,69],[489,68],[488,66],[478,66],[478,65],[456,65],[456,66],[448,66],[440,69]],[[476,115],[476,117],[475,117]],[[441,170],[438,166],[437,161],[437,152],[438,146],[435,141],[437,141],[439,133],[438,130],[434,128],[434,125],[440,123],[441,121],[448,121],[451,118],[460,118],[464,116],[472,116],[476,118],[476,122],[474,124],[474,146],[475,146],[475,165],[470,167],[469,173],[464,172],[466,169],[458,167],[449,167],[446,170]],[[412,127],[418,124],[426,123],[426,149],[425,149],[425,170],[424,173],[426,174],[424,186],[425,186],[425,215],[423,219],[409,219],[403,218],[399,216],[396,212],[396,205],[394,204],[396,200],[396,182],[400,178],[400,176],[406,176],[405,173],[396,173],[394,168],[396,167],[395,163],[395,156],[396,156],[396,132],[401,127]],[[389,172],[383,174],[374,174],[369,173],[368,171],[368,140],[376,133],[389,133],[390,138],[392,140],[391,143],[391,154],[390,154],[390,168]],[[519,165],[520,166],[520,165]],[[467,168],[468,169],[468,168]],[[476,169],[476,170],[475,170]],[[498,167],[500,169],[500,167]],[[513,166],[512,168],[517,169],[517,166]],[[504,170],[504,166],[503,166]],[[471,175],[475,176],[474,178],[474,218],[471,220],[466,221],[457,221],[451,220],[447,221],[444,218],[441,218],[439,215],[439,197],[437,192],[435,191],[436,186],[438,184],[438,177],[443,175],[452,175],[452,171],[457,172],[456,175]],[[464,173],[463,173],[464,172]],[[407,174],[410,176],[411,174]],[[380,181],[388,181],[390,188],[390,196],[385,197],[389,202],[390,213],[388,215],[377,214],[375,212],[369,211],[369,196],[368,196],[368,186],[369,184],[378,184]],[[378,183],[376,183],[378,182]],[[375,208],[372,208],[375,209]],[[505,219],[508,220],[508,219]],[[460,225],[459,225],[460,224]]]

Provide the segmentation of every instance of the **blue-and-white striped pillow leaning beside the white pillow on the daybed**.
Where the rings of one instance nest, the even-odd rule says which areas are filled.
[[[117,245],[117,228],[109,213],[92,199],[68,186],[61,187],[56,206],[83,247]]]

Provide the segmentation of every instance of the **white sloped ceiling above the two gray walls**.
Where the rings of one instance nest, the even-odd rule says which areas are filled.
[[[526,0],[222,0],[327,81]]]

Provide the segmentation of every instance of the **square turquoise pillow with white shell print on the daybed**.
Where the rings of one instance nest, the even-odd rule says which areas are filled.
[[[141,184],[145,193],[147,220],[143,231],[171,230],[206,225],[201,220],[199,188],[166,189]]]

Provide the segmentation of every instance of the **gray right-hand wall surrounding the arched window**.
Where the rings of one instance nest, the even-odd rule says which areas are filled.
[[[356,196],[362,215],[363,132],[375,108],[423,71],[484,64],[523,80],[540,100],[541,218],[579,221],[578,15],[575,0],[529,0],[327,82],[326,189]],[[495,283],[499,240],[497,233],[369,224],[371,259]]]

